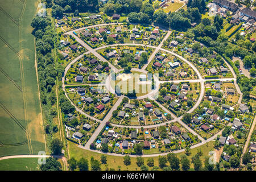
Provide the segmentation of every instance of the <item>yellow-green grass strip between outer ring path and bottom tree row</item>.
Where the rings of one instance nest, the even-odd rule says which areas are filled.
[[[192,156],[194,156],[197,153],[197,150],[201,150],[203,151],[203,156],[209,156],[209,151],[213,150],[213,141],[208,142],[207,144],[204,144],[203,146],[197,147],[197,148],[193,148],[191,150],[191,155],[187,156],[188,159],[191,160]],[[90,169],[90,158],[93,156],[94,159],[99,159],[102,154],[98,154],[97,152],[92,152],[92,151],[88,151],[88,150],[84,150],[82,148],[77,147],[77,144],[72,143],[70,141],[68,141],[68,146],[69,146],[69,154],[70,157],[75,158],[76,160],[79,160],[80,158],[85,158],[89,161],[89,169]],[[184,152],[180,152],[179,154],[177,154],[178,158],[180,159],[182,155],[185,155]],[[118,170],[118,166],[121,166],[121,170],[140,170],[141,168],[139,168],[136,164],[136,158],[131,158],[131,164],[129,166],[125,166],[125,164],[123,164],[123,157],[121,156],[112,156],[112,155],[106,155],[107,156],[107,164],[108,164],[108,168],[114,168],[116,171]],[[148,158],[143,158],[144,159],[144,164],[147,164],[147,159]],[[157,157],[153,157],[154,159],[154,164],[155,166],[158,166],[158,156]],[[204,158],[201,157],[201,160],[203,162]],[[167,165],[169,166],[169,164],[167,163]],[[193,165],[191,164],[191,168],[193,167]],[[101,164],[101,169],[105,170],[106,166]],[[152,167],[149,167],[149,170],[151,170]]]

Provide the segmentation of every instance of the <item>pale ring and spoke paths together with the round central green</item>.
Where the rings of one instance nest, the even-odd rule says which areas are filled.
[[[102,26],[102,24],[98,24],[97,26]],[[93,26],[93,27],[97,27],[97,26]],[[84,28],[80,28],[79,30],[83,30],[85,28],[89,28],[89,27],[84,27]],[[106,48],[108,46],[102,46],[102,47],[98,47],[98,48],[91,48],[90,46],[88,46],[88,44],[84,43],[78,36],[76,36],[75,34],[73,34],[73,32],[76,32],[77,30],[74,31],[70,31],[70,32],[66,32],[64,35],[72,35],[77,42],[79,42],[83,47],[85,47],[88,51],[85,52],[84,54],[88,54],[88,53],[92,53],[94,56],[97,57],[97,59],[103,61],[103,62],[107,62],[109,63],[108,60],[106,60],[103,56],[101,56],[97,51],[102,49],[102,48]],[[194,110],[197,109],[197,107],[200,105],[201,101],[203,100],[204,97],[204,93],[205,93],[205,85],[204,82],[205,81],[216,81],[216,80],[220,80],[220,81],[231,81],[234,80],[236,82],[236,77],[235,78],[219,78],[219,79],[212,79],[212,80],[205,80],[200,72],[197,70],[197,68],[195,67],[195,65],[193,65],[191,62],[189,62],[187,59],[185,59],[184,57],[178,55],[175,52],[172,52],[168,49],[164,49],[162,48],[163,46],[163,42],[165,40],[167,40],[168,36],[170,36],[171,31],[168,31],[166,36],[164,37],[164,39],[162,40],[162,42],[159,44],[159,46],[150,46],[150,45],[144,45],[144,44],[136,44],[136,43],[123,43],[123,44],[112,44],[110,45],[110,47],[115,47],[115,46],[147,46],[150,48],[154,48],[154,52],[152,52],[151,56],[148,58],[148,61],[145,65],[143,65],[143,67],[141,69],[138,68],[131,68],[130,73],[124,73],[124,69],[117,69],[114,67],[114,65],[112,65],[111,63],[109,63],[109,67],[111,68],[111,72],[110,75],[106,78],[106,80],[104,80],[104,82],[98,84],[98,85],[93,85],[93,84],[79,84],[79,85],[73,85],[73,86],[85,86],[85,85],[93,85],[93,86],[105,86],[105,88],[108,90],[108,92],[115,94],[118,97],[118,100],[114,103],[114,105],[110,108],[110,110],[108,111],[108,113],[105,115],[104,119],[102,119],[102,121],[100,119],[94,118],[92,117],[92,115],[89,115],[87,113],[85,113],[84,111],[82,111],[81,109],[79,109],[79,107],[77,107],[75,104],[73,104],[73,102],[71,101],[71,99],[68,97],[68,94],[65,90],[65,87],[67,85],[65,85],[65,76],[68,73],[69,68],[71,68],[71,65],[73,63],[76,63],[77,60],[81,59],[81,57],[84,56],[84,54],[76,57],[76,59],[72,60],[67,67],[65,68],[65,72],[64,72],[64,76],[62,79],[63,82],[63,90],[65,92],[65,96],[69,99],[69,101],[71,101],[72,105],[75,106],[76,110],[85,115],[86,117],[96,121],[96,122],[100,122],[100,125],[97,127],[97,129],[94,131],[94,133],[92,134],[92,136],[90,137],[90,139],[86,142],[85,146],[81,146],[79,145],[80,148],[84,148],[85,150],[90,150],[90,151],[94,151],[94,152],[101,152],[101,151],[97,151],[97,150],[91,150],[90,149],[90,144],[93,143],[98,135],[101,133],[102,129],[104,129],[106,127],[106,122],[109,122],[110,119],[112,118],[112,114],[113,111],[117,110],[118,106],[122,103],[123,98],[129,98],[129,100],[144,100],[144,99],[149,99],[154,101],[156,104],[159,105],[159,108],[162,109],[164,111],[164,117],[166,116],[166,114],[170,114],[171,115],[171,120],[168,120],[166,122],[162,122],[162,123],[157,123],[157,124],[153,124],[153,125],[146,125],[143,126],[143,129],[152,129],[154,127],[160,127],[160,126],[166,126],[167,124],[170,123],[174,123],[177,122],[179,123],[179,125],[181,125],[182,127],[184,127],[184,129],[186,129],[187,131],[189,131],[189,133],[197,136],[200,140],[199,143],[194,144],[191,146],[191,148],[195,148],[198,146],[201,146],[211,140],[213,140],[214,138],[217,137],[217,135],[221,134],[221,131],[219,131],[217,134],[215,134],[214,136],[208,138],[208,139],[204,139],[203,137],[201,137],[199,134],[197,134],[193,129],[191,129],[191,127],[189,127],[187,124],[185,124],[182,121],[183,115],[181,115],[180,117],[177,117],[174,113],[172,113],[170,110],[166,109],[166,107],[164,107],[162,104],[160,104],[158,101],[156,101],[156,99],[159,96],[159,88],[160,88],[160,84],[164,84],[166,82],[173,82],[175,84],[180,84],[181,82],[189,82],[189,83],[199,83],[200,85],[200,94],[195,102],[195,104],[187,111],[187,113],[192,113]],[[151,63],[151,61],[154,59],[156,53],[158,51],[164,51],[167,53],[170,53],[171,55],[174,55],[176,57],[178,57],[180,60],[184,61],[184,63],[188,64],[189,67],[191,67],[193,69],[193,71],[195,71],[198,79],[180,79],[180,80],[168,80],[168,81],[159,81],[158,76],[157,75],[151,75],[150,78],[148,80],[148,72],[146,71],[147,66]],[[234,72],[233,69],[230,67],[229,64],[227,64],[230,71]],[[114,74],[114,78],[112,76],[112,74]],[[233,74],[234,76],[236,74]],[[154,88],[152,88],[152,82],[154,82]],[[117,86],[118,85],[118,86]],[[69,85],[70,86],[70,85]],[[143,88],[145,88],[143,90]],[[119,88],[119,92],[117,92],[117,88]],[[236,88],[238,88],[237,84],[236,84]],[[136,92],[131,92],[129,94],[129,91],[136,91]],[[240,95],[241,98],[241,95]],[[241,99],[240,99],[241,100]],[[119,128],[129,128],[129,129],[141,129],[142,126],[125,126],[125,125],[118,125],[115,123],[111,123],[112,127],[119,127]],[[148,131],[146,131],[148,133]],[[145,132],[145,134],[146,134]],[[98,142],[99,140],[97,140]],[[175,150],[175,151],[171,151],[174,153],[178,153],[178,152],[183,152],[184,148],[181,150]],[[160,153],[160,154],[148,154],[148,155],[142,155],[144,157],[148,157],[148,156],[158,156],[158,155],[167,155],[169,152],[164,152],[164,153]],[[104,153],[106,154],[106,153]],[[115,156],[123,156],[122,154],[114,154],[114,153],[107,153],[108,155],[115,155]],[[130,155],[133,157],[136,157],[137,155]]]

